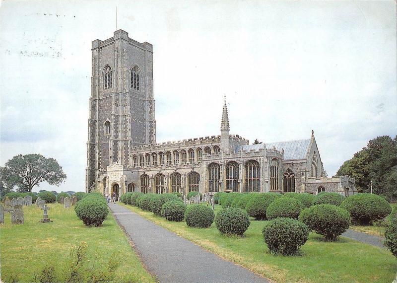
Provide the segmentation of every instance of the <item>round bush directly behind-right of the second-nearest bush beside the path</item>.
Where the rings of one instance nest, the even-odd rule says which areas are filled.
[[[266,219],[267,207],[278,198],[280,198],[280,194],[276,193],[255,194],[248,201],[246,211],[251,217],[255,217],[257,220],[264,220]]]

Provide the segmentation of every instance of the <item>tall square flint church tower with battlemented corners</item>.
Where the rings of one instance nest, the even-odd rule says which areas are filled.
[[[91,51],[86,191],[101,169],[128,167],[132,146],[156,142],[152,45],[117,30],[94,40]]]

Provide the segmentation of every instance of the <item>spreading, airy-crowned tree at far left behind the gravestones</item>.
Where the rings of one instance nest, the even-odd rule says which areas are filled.
[[[31,192],[42,182],[59,186],[66,180],[66,174],[54,158],[41,154],[16,155],[1,167],[3,184],[16,186],[20,192]]]

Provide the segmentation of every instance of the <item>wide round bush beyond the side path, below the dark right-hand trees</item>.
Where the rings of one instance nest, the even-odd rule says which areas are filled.
[[[392,212],[390,204],[381,196],[360,193],[347,197],[341,204],[354,223],[368,225],[382,219]]]

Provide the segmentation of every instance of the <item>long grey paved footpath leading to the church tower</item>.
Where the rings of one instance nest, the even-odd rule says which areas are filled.
[[[268,283],[123,206],[111,204],[109,208],[130,236],[146,269],[161,283]]]

